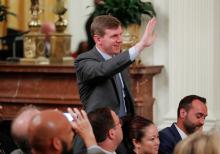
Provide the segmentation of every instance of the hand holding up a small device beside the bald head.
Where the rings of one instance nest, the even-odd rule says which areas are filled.
[[[67,111],[73,117],[73,121],[71,122],[72,128],[83,139],[86,147],[89,148],[90,146],[97,145],[86,112],[84,110],[79,111],[77,108],[74,108],[73,110],[68,108]]]

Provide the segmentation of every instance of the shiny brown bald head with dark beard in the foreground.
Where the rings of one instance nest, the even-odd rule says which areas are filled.
[[[74,134],[60,111],[42,111],[32,119],[28,132],[30,144],[36,153],[61,153],[72,147]]]

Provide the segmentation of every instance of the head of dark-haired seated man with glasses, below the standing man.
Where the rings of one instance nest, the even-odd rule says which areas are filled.
[[[106,154],[115,150],[123,139],[121,121],[110,108],[99,108],[88,114],[99,148]]]

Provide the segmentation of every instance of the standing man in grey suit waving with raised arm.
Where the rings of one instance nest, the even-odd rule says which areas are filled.
[[[95,46],[75,61],[80,98],[86,112],[110,107],[120,117],[134,115],[132,96],[124,81],[124,70],[145,47],[153,44],[156,19],[152,18],[140,42],[121,53],[122,27],[109,15],[97,16],[91,25]]]

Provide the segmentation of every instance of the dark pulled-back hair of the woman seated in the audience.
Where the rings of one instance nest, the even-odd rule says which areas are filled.
[[[124,143],[126,144],[129,151],[133,151],[134,145],[132,140],[141,142],[141,139],[145,136],[145,128],[152,125],[153,122],[141,116],[125,116],[122,118]]]

